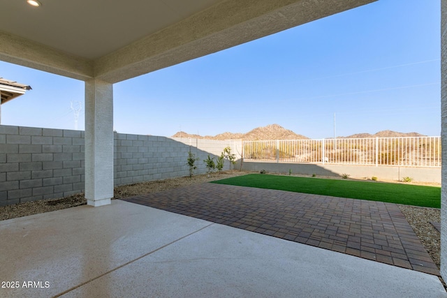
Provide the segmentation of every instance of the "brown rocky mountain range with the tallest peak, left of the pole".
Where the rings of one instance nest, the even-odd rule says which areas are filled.
[[[173,137],[191,137],[194,139],[209,139],[209,140],[308,140],[309,137],[304,135],[298,135],[293,131],[290,131],[278,124],[270,124],[268,126],[257,127],[249,131],[248,133],[220,133],[219,135],[190,135],[184,131],[175,133]]]

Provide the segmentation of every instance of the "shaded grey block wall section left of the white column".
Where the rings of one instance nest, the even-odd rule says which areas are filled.
[[[0,206],[84,190],[84,132],[0,126]]]

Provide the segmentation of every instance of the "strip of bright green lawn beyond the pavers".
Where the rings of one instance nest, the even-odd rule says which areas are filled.
[[[213,181],[212,183],[277,189],[281,191],[293,191],[295,193],[332,195],[340,198],[390,202],[420,207],[441,207],[441,188],[434,186],[268,174],[248,174]]]

